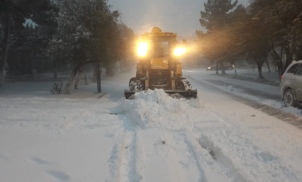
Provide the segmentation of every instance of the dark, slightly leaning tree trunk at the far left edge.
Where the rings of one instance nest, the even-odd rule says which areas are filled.
[[[9,36],[11,31],[12,18],[9,16],[5,17],[4,25],[4,55],[0,56],[0,87],[4,85],[4,74],[5,74],[5,63],[7,60],[8,47],[9,47]]]

